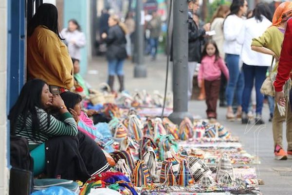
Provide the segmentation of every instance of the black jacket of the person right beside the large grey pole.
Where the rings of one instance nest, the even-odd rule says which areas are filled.
[[[188,12],[188,61],[201,62],[201,49],[205,30],[199,29],[193,20],[192,13]]]

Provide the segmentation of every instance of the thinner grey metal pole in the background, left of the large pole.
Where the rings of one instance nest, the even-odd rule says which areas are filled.
[[[137,0],[136,3],[136,32],[135,32],[135,50],[137,51],[137,58],[134,69],[134,77],[146,77],[147,71],[144,65],[144,20],[142,21],[143,2]],[[144,16],[143,16],[144,18]]]

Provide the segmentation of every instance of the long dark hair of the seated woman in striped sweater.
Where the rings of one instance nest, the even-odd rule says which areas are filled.
[[[20,94],[18,96],[17,102],[15,105],[10,109],[8,119],[10,120],[10,127],[11,127],[11,134],[15,135],[17,122],[19,117],[23,122],[20,130],[26,129],[26,120],[30,116],[32,119],[32,137],[30,138],[34,142],[36,135],[39,134],[39,118],[37,116],[37,108],[43,108],[41,104],[41,94],[42,89],[46,85],[46,83],[40,79],[33,79],[28,81],[22,87]],[[50,114],[48,114],[48,127],[50,125]],[[29,134],[28,134],[29,135]]]

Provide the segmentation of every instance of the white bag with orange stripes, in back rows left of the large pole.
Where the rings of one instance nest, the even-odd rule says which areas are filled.
[[[128,130],[134,135],[136,141],[139,141],[143,137],[143,124],[137,115],[129,116]]]

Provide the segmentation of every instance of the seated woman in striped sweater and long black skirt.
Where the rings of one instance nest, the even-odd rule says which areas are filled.
[[[48,110],[58,110],[60,120]],[[59,95],[39,79],[28,81],[9,112],[11,134],[26,138],[35,149],[34,175],[86,181],[109,169],[101,148],[78,132],[76,121]]]

